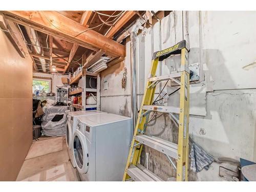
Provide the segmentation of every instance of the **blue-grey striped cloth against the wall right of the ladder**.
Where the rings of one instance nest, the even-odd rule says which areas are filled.
[[[191,165],[190,169],[194,172],[200,172],[203,168],[206,170],[209,169],[210,164],[214,162],[214,157],[207,154],[202,147],[196,144],[194,141],[191,141],[191,151],[190,151],[190,159]]]

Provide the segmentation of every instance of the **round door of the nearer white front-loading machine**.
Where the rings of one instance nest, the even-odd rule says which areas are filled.
[[[76,162],[76,168],[80,174],[86,174],[89,168],[89,154],[86,137],[80,131],[76,131],[73,141],[73,152]]]

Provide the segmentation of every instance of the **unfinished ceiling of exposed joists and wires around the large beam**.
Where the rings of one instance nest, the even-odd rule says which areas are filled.
[[[61,15],[72,19],[90,30],[94,30],[102,35],[108,34],[128,11],[57,11]],[[131,18],[123,24],[123,26],[115,32],[115,34],[108,36],[114,38],[118,36],[127,26],[131,25],[144,11],[134,12]],[[136,14],[137,13],[137,14]],[[87,17],[87,18],[86,18]],[[30,29],[29,27],[17,24],[20,31],[24,35],[24,41],[28,46],[31,57],[34,61],[34,71],[41,73],[53,73],[50,67],[50,60],[52,57],[52,66],[56,67],[54,73],[72,73],[79,66],[86,62],[86,58],[94,53],[93,50],[78,46],[75,48],[72,42],[63,40],[60,37],[51,36],[46,33]],[[123,42],[124,43],[124,42]],[[72,56],[71,51],[74,51]],[[52,50],[52,53],[51,53]],[[71,56],[71,59],[69,58]],[[108,55],[106,55],[108,56]],[[111,57],[111,56],[110,56]],[[111,57],[113,58],[113,57]],[[70,63],[68,65],[68,62]],[[67,67],[68,65],[68,67]],[[66,69],[67,68],[67,69]]]

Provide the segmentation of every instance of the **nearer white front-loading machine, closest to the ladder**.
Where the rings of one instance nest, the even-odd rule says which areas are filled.
[[[115,114],[78,118],[73,137],[82,181],[122,181],[132,138],[132,120]]]

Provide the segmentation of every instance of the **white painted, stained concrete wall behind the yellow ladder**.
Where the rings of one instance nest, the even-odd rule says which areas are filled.
[[[152,53],[186,39],[190,48],[189,64],[199,63],[200,68],[199,82],[190,84],[190,137],[212,156],[237,160],[241,157],[256,161],[256,68],[248,71],[243,69],[256,60],[255,22],[256,12],[249,11],[175,11],[156,23],[152,29],[148,29],[145,37],[139,34],[138,108]],[[129,46],[127,40],[124,62],[127,69],[130,69]],[[179,71],[180,58],[169,57],[161,65],[157,74]],[[119,109],[124,108],[124,101],[129,97],[124,94],[130,95],[130,91],[120,89],[123,71],[115,75],[109,69],[106,73],[108,75],[101,78],[101,84],[104,78],[116,84],[108,94],[104,95],[102,91],[102,109],[121,114]],[[156,93],[159,92],[159,87],[160,85]],[[176,89],[177,87],[167,84],[165,91],[170,93]],[[108,97],[111,94],[116,96]],[[164,104],[179,106],[179,93],[164,100]],[[157,117],[148,126],[146,134],[177,142],[177,127],[169,116],[158,113]],[[164,180],[176,177],[167,158],[151,148],[145,147],[141,157],[142,164],[145,165],[145,152],[149,153],[148,169]],[[223,180],[218,174],[219,164],[213,163],[207,171],[191,173],[189,179]]]

